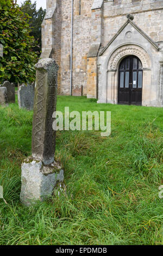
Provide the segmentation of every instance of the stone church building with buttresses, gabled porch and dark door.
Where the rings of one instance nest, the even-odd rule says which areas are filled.
[[[163,0],[47,0],[41,58],[61,95],[163,107]]]

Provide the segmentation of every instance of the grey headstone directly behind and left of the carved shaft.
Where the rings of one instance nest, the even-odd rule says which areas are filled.
[[[30,86],[29,84],[22,84],[19,87],[17,96],[18,96],[18,106],[19,108],[26,108],[28,110],[33,110],[34,107],[34,95],[35,89],[33,84]]]

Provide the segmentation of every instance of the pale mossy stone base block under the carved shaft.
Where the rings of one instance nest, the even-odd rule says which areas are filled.
[[[64,181],[64,170],[59,164],[45,166],[42,161],[29,157],[22,163],[21,202],[30,206],[51,196],[58,182]]]

